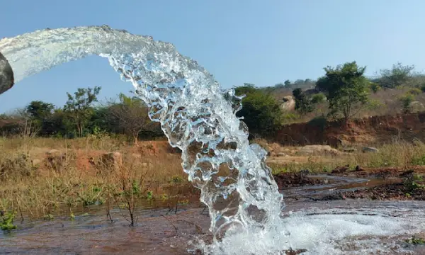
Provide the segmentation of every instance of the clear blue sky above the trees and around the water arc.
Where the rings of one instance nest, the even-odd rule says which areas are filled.
[[[396,62],[425,70],[423,0],[9,0],[0,38],[42,28],[108,24],[171,42],[223,87],[316,79],[323,67],[356,60],[368,75]],[[101,57],[28,77],[0,96],[0,113],[66,92],[102,86],[101,99],[132,89]]]

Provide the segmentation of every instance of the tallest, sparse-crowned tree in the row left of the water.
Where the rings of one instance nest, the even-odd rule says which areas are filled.
[[[94,111],[91,104],[97,101],[100,91],[101,87],[95,86],[94,89],[79,88],[74,92],[74,96],[67,93],[68,101],[64,105],[64,111],[74,123],[79,137],[84,134],[84,126],[88,123]]]

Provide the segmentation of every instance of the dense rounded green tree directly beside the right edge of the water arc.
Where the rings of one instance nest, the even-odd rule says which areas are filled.
[[[267,136],[282,123],[282,113],[278,102],[271,94],[267,94],[254,86],[239,86],[235,88],[237,96],[242,99],[242,109],[238,117],[244,117],[250,134]]]

